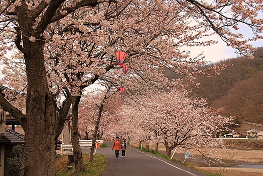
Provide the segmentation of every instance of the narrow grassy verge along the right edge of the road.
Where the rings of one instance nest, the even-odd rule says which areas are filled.
[[[164,155],[164,154],[160,154],[158,151],[155,151],[155,150],[145,149],[144,147],[142,147],[142,149],[141,149],[141,147],[137,147],[137,148],[140,149],[140,150],[142,150],[142,151],[145,151],[145,152],[153,153],[154,155],[159,156],[159,157],[161,157],[161,158],[165,158],[165,159],[168,159],[168,160],[170,160],[170,161],[174,161],[174,162],[176,162],[176,163],[178,163],[178,164],[181,164],[181,165],[186,166],[186,167],[188,167],[188,168],[194,169],[194,170],[196,170],[196,171],[199,171],[199,172],[208,174],[209,176],[223,176],[223,174],[220,174],[220,173],[208,173],[208,172],[206,172],[206,171],[203,171],[203,170],[201,170],[201,169],[199,169],[199,168],[196,168],[193,164],[191,164],[191,163],[189,163],[189,162],[183,163],[183,162],[180,161],[180,160],[177,160],[177,159],[174,159],[174,158],[171,159],[170,156],[167,156],[167,155]]]

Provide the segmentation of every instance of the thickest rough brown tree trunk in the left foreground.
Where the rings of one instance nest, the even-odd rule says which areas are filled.
[[[44,67],[44,42],[25,39],[24,58],[28,77],[25,131],[25,175],[55,175],[55,101],[48,89]]]

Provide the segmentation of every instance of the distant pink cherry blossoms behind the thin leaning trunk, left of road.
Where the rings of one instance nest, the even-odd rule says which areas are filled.
[[[98,118],[97,115],[99,113],[96,104],[102,104],[101,102],[103,99],[101,99],[101,97],[105,96],[104,92],[105,90],[96,90],[82,96],[78,122],[79,126],[82,125],[83,128],[85,128],[85,131],[80,131],[82,136],[85,136],[85,134],[88,132],[94,132],[95,123]],[[95,140],[100,140],[104,134],[104,131],[107,130],[107,128],[110,128],[111,124],[115,124],[119,120],[117,112],[120,111],[120,108],[123,104],[121,94],[120,92],[116,92],[111,96],[108,94],[108,96],[109,97],[105,101],[101,112],[101,118],[98,124],[98,131],[96,133]]]

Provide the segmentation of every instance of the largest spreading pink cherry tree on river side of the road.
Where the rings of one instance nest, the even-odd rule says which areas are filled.
[[[190,96],[185,89],[151,91],[145,96],[134,96],[133,101],[137,103],[132,103],[123,113],[148,132],[149,143],[163,143],[168,156],[177,145],[213,150],[221,143],[213,137],[234,120],[218,115],[219,110],[208,108],[204,99]]]

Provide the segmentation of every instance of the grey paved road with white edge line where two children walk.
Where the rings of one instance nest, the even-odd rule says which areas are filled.
[[[206,175],[167,159],[155,156],[149,152],[142,152],[139,149],[130,146],[127,146],[125,158],[119,157],[119,159],[115,159],[115,152],[114,150],[111,151],[113,142],[105,141],[105,143],[108,144],[108,147],[102,147],[96,151],[96,153],[102,153],[108,156],[108,165],[102,176]]]

